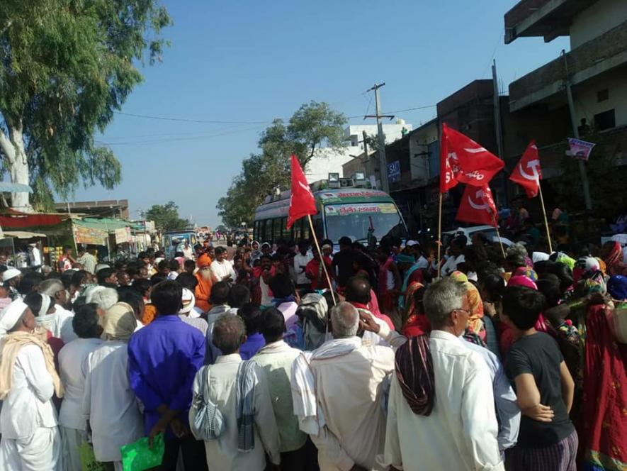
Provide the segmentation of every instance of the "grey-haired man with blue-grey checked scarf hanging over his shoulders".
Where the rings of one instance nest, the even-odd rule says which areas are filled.
[[[223,431],[215,440],[205,441],[209,471],[263,470],[266,453],[273,465],[278,465],[280,444],[266,373],[256,362],[243,362],[239,356],[246,341],[244,321],[222,314],[213,324],[212,339],[222,355],[196,373],[189,411],[193,423],[198,414],[196,397],[203,397],[206,388],[208,400],[222,414]],[[207,377],[209,384],[203,384]]]

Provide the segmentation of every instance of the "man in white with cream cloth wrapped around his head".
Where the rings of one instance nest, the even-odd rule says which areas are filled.
[[[127,375],[128,339],[137,327],[126,303],[114,304],[103,321],[106,341],[89,353],[83,393],[83,414],[89,417],[94,456],[122,470],[120,446],[144,434],[142,415]]]

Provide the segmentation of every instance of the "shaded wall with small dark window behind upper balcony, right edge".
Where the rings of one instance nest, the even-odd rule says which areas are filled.
[[[573,89],[577,124],[586,118],[589,124],[594,122],[594,115],[611,109],[615,110],[616,126],[627,126],[627,70],[618,69],[613,74],[606,74],[594,79],[592,85]],[[597,94],[607,89],[608,99],[599,102]]]

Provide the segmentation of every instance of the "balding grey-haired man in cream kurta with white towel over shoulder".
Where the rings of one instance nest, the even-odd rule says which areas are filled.
[[[331,324],[333,339],[294,362],[294,414],[318,448],[320,470],[371,470],[383,453],[382,383],[394,351],[362,343],[360,314],[348,302],[334,306]]]

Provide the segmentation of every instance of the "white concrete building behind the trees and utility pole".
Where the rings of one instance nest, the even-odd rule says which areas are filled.
[[[402,119],[398,119],[392,124],[383,124],[383,134],[385,134],[385,143],[392,143],[397,139],[402,138],[403,133],[412,131],[412,125],[405,123]],[[316,150],[316,153],[312,160],[310,160],[305,170],[305,176],[307,182],[317,182],[318,180],[327,179],[329,173],[339,172],[342,177],[351,177],[350,174],[346,174],[343,171],[343,165],[347,162],[359,157],[363,154],[363,133],[366,132],[368,136],[377,135],[376,124],[358,124],[346,127],[344,135],[348,145],[335,152],[330,148],[320,148]],[[374,176],[373,181],[377,182],[377,186],[380,186],[380,174],[379,165],[369,165],[368,168],[364,167],[366,172],[366,179]]]

